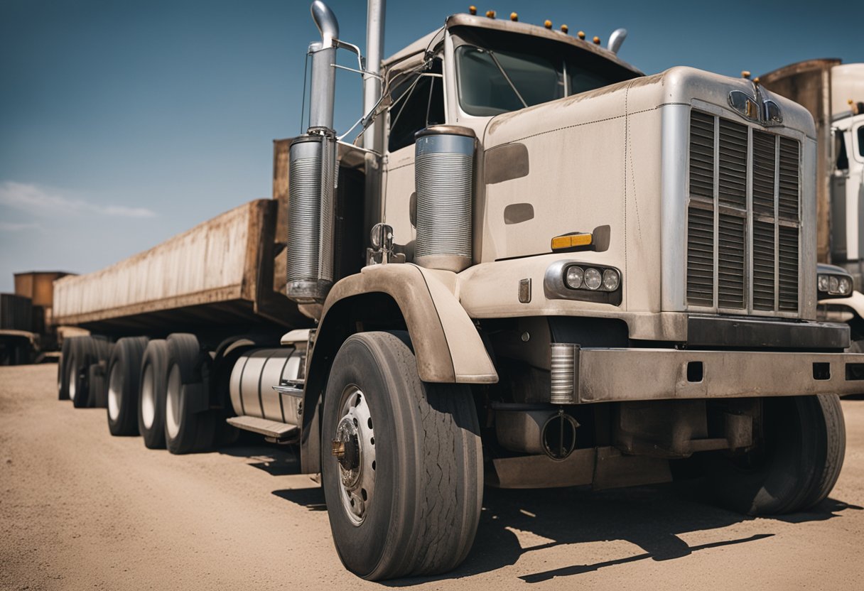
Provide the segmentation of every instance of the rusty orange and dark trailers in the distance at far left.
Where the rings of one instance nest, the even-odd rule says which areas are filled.
[[[0,365],[57,359],[65,328],[58,330],[53,320],[54,280],[67,275],[64,271],[15,273],[15,293],[0,294]]]

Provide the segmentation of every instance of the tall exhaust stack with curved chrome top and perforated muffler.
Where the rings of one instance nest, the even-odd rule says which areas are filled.
[[[288,283],[298,303],[321,303],[333,286],[334,189],[338,175],[333,128],[339,23],[321,0],[311,7],[321,42],[309,46],[309,127],[289,149]]]

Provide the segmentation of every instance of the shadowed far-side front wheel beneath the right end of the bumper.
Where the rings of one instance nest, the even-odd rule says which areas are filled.
[[[834,487],[846,453],[835,394],[763,401],[763,445],[744,456],[708,456],[708,485],[738,512],[771,515],[809,509]]]

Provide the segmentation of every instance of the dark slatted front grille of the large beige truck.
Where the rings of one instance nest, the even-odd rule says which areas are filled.
[[[687,304],[798,310],[800,144],[691,111]]]

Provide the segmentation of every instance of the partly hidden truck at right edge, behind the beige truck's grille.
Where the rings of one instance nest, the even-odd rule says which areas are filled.
[[[864,64],[805,60],[756,80],[804,105],[816,123],[817,260],[852,275],[853,289],[820,286],[819,315],[848,321],[852,348],[864,351]],[[826,268],[827,269],[827,268]],[[833,270],[830,272],[838,272]]]

